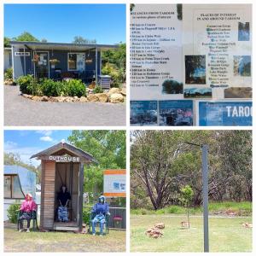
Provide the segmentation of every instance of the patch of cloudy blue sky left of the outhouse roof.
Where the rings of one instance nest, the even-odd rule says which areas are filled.
[[[40,161],[30,160],[32,154],[60,143],[62,139],[67,142],[71,133],[70,130],[5,130],[4,152],[20,154],[22,161],[38,166]]]

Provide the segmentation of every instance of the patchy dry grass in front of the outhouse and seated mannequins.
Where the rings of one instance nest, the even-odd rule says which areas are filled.
[[[21,232],[4,229],[4,252],[125,252],[125,231],[109,230],[107,236],[69,232]]]

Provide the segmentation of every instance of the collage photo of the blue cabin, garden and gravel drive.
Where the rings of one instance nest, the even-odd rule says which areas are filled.
[[[125,126],[125,9],[4,3],[4,125]]]

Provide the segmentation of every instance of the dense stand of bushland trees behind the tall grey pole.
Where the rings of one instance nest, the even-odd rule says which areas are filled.
[[[252,201],[252,131],[133,131],[131,196],[137,201],[131,206],[179,205],[186,184],[194,192],[191,205],[201,206],[201,149],[185,141],[209,145],[209,200]]]

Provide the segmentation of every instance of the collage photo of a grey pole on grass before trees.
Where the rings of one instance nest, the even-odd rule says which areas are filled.
[[[252,138],[131,130],[131,253],[252,252]]]

